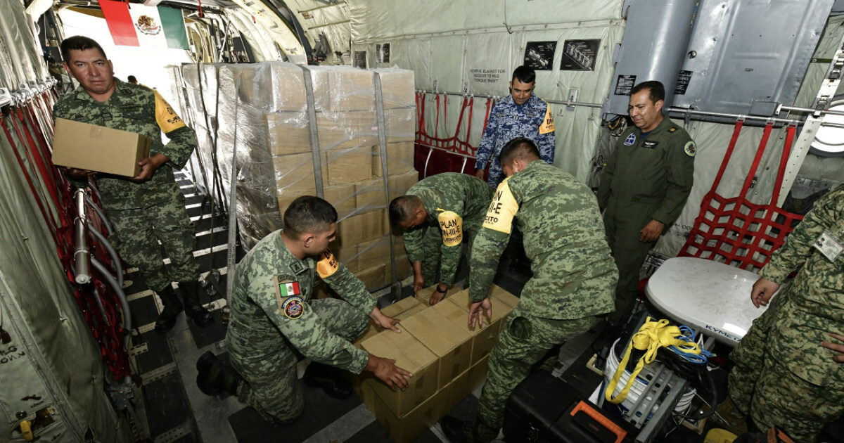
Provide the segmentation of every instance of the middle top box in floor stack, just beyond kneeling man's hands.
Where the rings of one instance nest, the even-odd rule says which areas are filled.
[[[469,369],[471,336],[436,309],[427,308],[403,321],[402,326],[440,358],[440,389]]]

